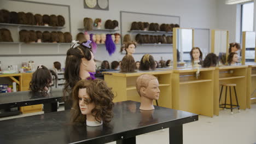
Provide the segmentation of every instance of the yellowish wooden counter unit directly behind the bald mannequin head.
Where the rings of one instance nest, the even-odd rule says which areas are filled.
[[[140,101],[136,89],[136,79],[142,74],[151,74],[158,77],[160,98],[159,106],[172,108],[172,86],[171,70],[136,71],[135,73],[120,73],[119,71],[103,72],[104,81],[107,82],[112,91],[116,94],[114,102],[133,100]],[[154,102],[155,103],[155,102]]]

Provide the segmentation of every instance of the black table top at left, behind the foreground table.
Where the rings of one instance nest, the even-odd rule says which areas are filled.
[[[26,106],[49,103],[51,101],[61,101],[62,89],[53,88],[50,93],[40,92],[13,92],[13,93],[0,93],[0,109],[7,106]]]

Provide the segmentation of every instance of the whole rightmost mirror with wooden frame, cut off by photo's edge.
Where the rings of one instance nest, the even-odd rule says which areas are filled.
[[[255,62],[255,32],[242,33],[242,64]]]

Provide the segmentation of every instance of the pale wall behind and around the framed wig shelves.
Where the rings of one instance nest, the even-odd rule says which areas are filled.
[[[28,0],[28,1],[34,1],[38,2],[37,0]],[[218,0],[159,0],[159,1],[148,1],[148,0],[109,0],[109,11],[105,10],[91,10],[91,9],[84,9],[83,1],[69,1],[69,0],[44,0],[45,3],[55,3],[55,4],[65,4],[70,5],[71,7],[71,31],[73,38],[75,38],[75,35],[78,33],[77,28],[83,27],[83,19],[84,17],[91,17],[92,19],[95,19],[97,17],[101,17],[103,22],[107,19],[116,19],[120,21],[120,10],[123,11],[133,11],[138,13],[151,13],[151,14],[164,14],[164,15],[175,15],[181,17],[181,27],[189,28],[189,27],[195,27],[195,28],[217,28],[219,26],[223,26],[223,28],[228,29],[230,27],[230,23],[225,22],[229,21],[224,19],[224,17],[221,19],[217,19],[217,15],[225,15],[226,11],[224,10],[224,7],[220,5]],[[219,0],[222,1],[222,0]],[[1,1],[0,5],[6,3],[7,1]],[[147,3],[147,5],[146,5]],[[218,11],[218,7],[223,8],[221,11]],[[6,7],[5,9],[11,9],[11,5],[9,7]],[[28,6],[26,9],[30,9]],[[234,11],[234,6],[228,6],[228,9],[231,11],[228,11],[228,13],[232,13]],[[222,12],[222,13],[220,13]],[[223,14],[224,13],[224,14]],[[231,19],[231,18],[230,18]],[[231,19],[232,20],[232,19]],[[218,22],[219,21],[219,22]],[[218,24],[218,25],[217,25]],[[103,23],[104,25],[104,23]],[[222,27],[220,27],[222,28]],[[230,27],[231,34],[232,29],[234,29],[234,26],[232,25]],[[234,39],[234,38],[232,38]],[[1,45],[0,45],[1,49]],[[117,48],[119,49],[119,47]],[[105,60],[108,61],[120,61],[121,58],[124,55],[120,55],[118,52],[115,52],[112,57],[109,57],[107,55],[106,50],[104,47],[99,47],[97,51],[98,54],[96,55],[96,59],[99,60]],[[1,54],[1,53],[0,53]],[[137,57],[134,56],[136,61],[139,61],[141,59],[141,56]],[[160,58],[160,56],[158,57]],[[62,65],[65,63],[65,56],[40,56],[40,57],[0,57],[0,61],[2,62],[2,65],[4,68],[7,67],[7,65],[20,65],[21,62],[26,62],[29,60],[33,60],[36,62],[36,64],[44,64],[46,67],[52,67],[54,61],[60,61]],[[160,60],[160,59],[156,59]]]

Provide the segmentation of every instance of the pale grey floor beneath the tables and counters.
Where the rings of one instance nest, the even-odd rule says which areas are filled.
[[[60,107],[59,111],[63,110]],[[38,115],[43,112],[30,113],[25,115],[0,118],[0,121],[9,118],[17,118],[31,115]],[[136,137],[139,144],[143,143],[168,143],[168,129],[154,131],[152,133],[139,135]],[[113,144],[110,142],[108,144]],[[199,121],[183,125],[183,143],[203,143],[203,144],[252,144],[256,143],[256,104],[252,109],[222,110],[219,116],[205,117],[199,116]]]

